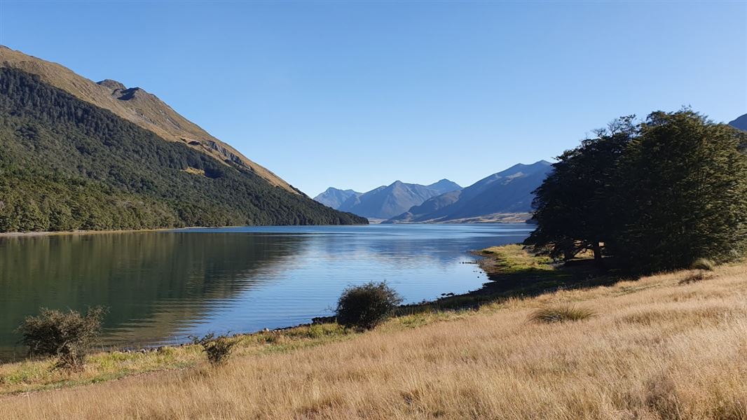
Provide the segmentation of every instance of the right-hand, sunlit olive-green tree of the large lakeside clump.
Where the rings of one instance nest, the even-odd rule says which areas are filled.
[[[742,257],[747,156],[741,140],[734,128],[691,110],[651,113],[619,163],[614,253],[638,271]]]

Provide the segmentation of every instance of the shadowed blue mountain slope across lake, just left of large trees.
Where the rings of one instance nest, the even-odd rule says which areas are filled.
[[[532,205],[532,192],[542,184],[551,169],[551,164],[545,160],[531,165],[520,163],[461,191],[429,198],[387,222],[450,222],[490,218],[506,213],[528,213]]]

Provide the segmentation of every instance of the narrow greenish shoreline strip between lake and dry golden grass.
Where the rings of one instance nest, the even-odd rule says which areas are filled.
[[[405,331],[421,325],[464,319],[493,310],[515,301],[531,301],[539,295],[609,286],[620,278],[601,275],[589,281],[586,264],[559,266],[546,257],[529,254],[521,245],[501,245],[469,251],[474,263],[486,273],[487,280],[479,289],[459,295],[443,293],[441,298],[417,304],[400,305],[385,325],[374,333]],[[593,261],[592,261],[593,262]],[[592,286],[592,287],[589,287]],[[358,339],[368,333],[351,330],[335,322],[334,316],[320,316],[311,323],[264,328],[252,332],[226,333],[237,344],[235,357],[273,357],[303,348],[316,348]],[[202,348],[187,338],[153,345],[99,345],[87,354],[87,368],[72,374],[52,369],[54,360],[25,357],[0,362],[0,401],[14,395],[29,395],[52,389],[78,387],[111,380],[122,380],[143,374],[179,372],[202,369],[205,356]],[[33,380],[31,379],[33,378]]]

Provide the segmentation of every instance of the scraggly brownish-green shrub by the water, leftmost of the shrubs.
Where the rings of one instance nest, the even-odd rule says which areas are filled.
[[[103,307],[88,309],[85,316],[75,310],[62,312],[41,308],[38,316],[27,316],[16,330],[30,355],[58,357],[56,368],[79,370],[85,354],[101,332]]]

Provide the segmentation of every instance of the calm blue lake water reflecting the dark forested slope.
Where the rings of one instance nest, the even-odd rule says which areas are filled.
[[[187,229],[0,237],[0,358],[39,307],[104,305],[103,345],[261,330],[331,315],[349,285],[386,280],[407,303],[478,289],[468,251],[521,242],[532,225]]]

